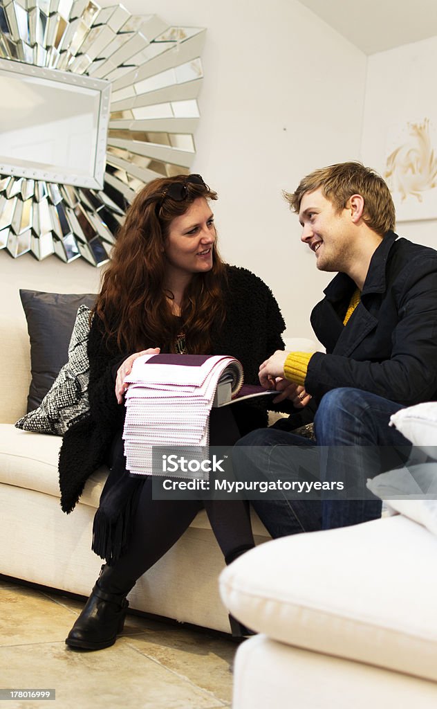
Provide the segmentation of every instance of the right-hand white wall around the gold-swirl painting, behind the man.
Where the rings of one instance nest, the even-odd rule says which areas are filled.
[[[381,174],[387,145],[399,125],[427,117],[437,127],[436,66],[437,37],[368,57],[361,155]],[[436,219],[398,222],[397,233],[437,247]]]

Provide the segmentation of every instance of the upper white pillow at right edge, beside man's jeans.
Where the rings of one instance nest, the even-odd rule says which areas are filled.
[[[390,417],[390,425],[437,460],[437,401],[401,408]]]

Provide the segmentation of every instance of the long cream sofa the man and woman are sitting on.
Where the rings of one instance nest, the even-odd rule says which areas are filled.
[[[25,413],[30,383],[29,338],[18,289],[84,293],[95,292],[97,284],[81,282],[81,264],[59,264],[62,273],[57,277],[55,264],[37,264],[30,257],[8,264],[16,269],[16,277],[8,270],[0,284],[0,574],[88,596],[102,563],[91,552],[91,529],[108,471],[102,467],[93,474],[80,503],[65,515],[59,506],[57,476],[61,439],[18,430],[14,423]],[[69,271],[79,272],[70,289],[61,285]],[[308,342],[297,340],[297,345],[305,347]],[[270,539],[256,515],[253,529],[257,543]],[[223,566],[208,518],[201,512],[181,540],[138,581],[130,605],[229,632],[217,584]]]

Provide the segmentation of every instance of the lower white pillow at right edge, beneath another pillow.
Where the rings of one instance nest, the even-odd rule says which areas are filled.
[[[437,535],[437,462],[390,470],[367,486],[385,501],[389,514],[404,515]]]

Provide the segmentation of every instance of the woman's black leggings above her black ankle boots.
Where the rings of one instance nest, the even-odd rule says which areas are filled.
[[[210,418],[210,445],[232,445],[239,438],[229,407],[213,409]],[[114,441],[113,467],[123,467],[123,440]],[[254,547],[249,504],[239,500],[153,500],[152,478],[142,485],[132,537],[127,552],[111,565],[111,578],[123,590],[127,580],[136,581],[177,542],[198,511],[205,508],[220,549],[229,564]],[[115,589],[114,589],[115,590]]]

